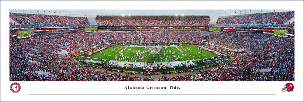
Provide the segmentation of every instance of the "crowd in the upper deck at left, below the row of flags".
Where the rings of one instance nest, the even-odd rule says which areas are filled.
[[[22,14],[9,13],[9,17],[20,25],[10,23],[10,28],[28,28],[28,27],[88,27],[90,25],[86,17],[69,17],[48,14]]]

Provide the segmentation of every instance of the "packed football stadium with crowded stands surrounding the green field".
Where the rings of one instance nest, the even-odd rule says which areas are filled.
[[[9,16],[10,81],[295,80],[294,11]]]

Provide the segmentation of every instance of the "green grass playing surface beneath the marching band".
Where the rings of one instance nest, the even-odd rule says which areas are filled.
[[[173,61],[192,60],[193,58],[194,59],[204,59],[204,58],[210,58],[210,57],[216,57],[217,56],[217,55],[215,55],[213,53],[210,53],[210,52],[208,52],[206,50],[200,49],[199,47],[194,46],[194,45],[193,46],[178,46],[178,49],[180,49],[180,50],[178,50],[177,47],[167,47],[166,51],[171,51],[171,53],[166,53],[165,56],[164,56],[164,53],[165,53],[164,49],[165,49],[165,47],[161,47],[160,48],[161,56],[163,58],[170,58],[170,59],[172,59],[172,57],[168,57],[168,56],[175,56],[173,58],[176,58],[176,60],[173,60]],[[111,52],[111,50],[112,50],[112,52]],[[96,53],[96,54],[94,54],[92,56],[89,56],[89,58],[91,58],[92,60],[96,60],[96,61],[101,61],[101,59],[128,61],[128,60],[126,60],[126,57],[137,56],[137,57],[133,57],[133,58],[138,58],[138,57],[146,56],[146,57],[139,58],[139,59],[136,59],[136,60],[130,60],[130,62],[146,62],[146,61],[149,61],[149,62],[153,62],[153,61],[155,61],[155,62],[161,62],[161,61],[165,61],[165,59],[161,59],[160,58],[159,54],[150,54],[150,55],[148,55],[147,52],[144,52],[144,51],[147,51],[147,50],[149,50],[149,51],[155,50],[156,52],[158,52],[157,48],[150,48],[150,49],[148,49],[148,48],[145,48],[145,47],[112,46],[112,47],[109,47],[108,49],[105,49],[105,50],[101,51],[102,53]],[[138,53],[135,54],[135,53],[133,53],[133,51],[141,51],[141,52],[143,52],[143,54],[142,55],[140,55]],[[121,53],[119,53],[119,52],[121,52]],[[80,55],[80,54],[77,54],[77,55]],[[116,55],[118,55],[118,54],[123,54],[123,56],[125,58],[123,58],[123,56],[117,56],[117,59],[115,59],[114,57]],[[183,56],[183,54],[185,54],[187,56]],[[190,55],[192,55],[192,56],[190,56]],[[156,56],[155,60],[152,59],[153,56]],[[179,58],[178,58],[178,56],[179,56]],[[89,58],[85,58],[85,57],[82,57],[82,56],[78,56],[78,57],[81,58],[81,59],[83,59],[83,60],[84,59],[89,59]],[[166,60],[166,61],[168,61],[168,60]]]

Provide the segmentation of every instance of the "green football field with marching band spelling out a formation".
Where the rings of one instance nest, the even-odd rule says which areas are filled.
[[[156,59],[153,59],[153,56],[155,56]],[[172,46],[172,47],[111,46],[89,57],[82,57],[78,55],[78,57],[83,60],[92,59],[96,61],[101,61],[102,59],[102,60],[117,60],[117,61],[130,61],[130,62],[147,62],[147,61],[172,62],[172,61],[185,61],[192,59],[194,60],[205,59],[205,58],[211,58],[217,56],[218,55],[208,52],[194,45]]]

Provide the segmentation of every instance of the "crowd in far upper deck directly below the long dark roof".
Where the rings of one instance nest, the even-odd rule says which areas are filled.
[[[207,26],[210,19],[96,19],[98,26]]]

